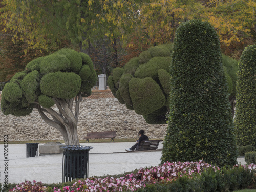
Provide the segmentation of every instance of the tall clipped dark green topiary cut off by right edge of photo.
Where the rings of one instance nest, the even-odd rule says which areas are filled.
[[[238,145],[256,147],[256,45],[245,48],[238,64],[234,119]]]

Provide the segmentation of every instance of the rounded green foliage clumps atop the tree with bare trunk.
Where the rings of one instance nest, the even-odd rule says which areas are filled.
[[[3,89],[1,109],[5,115],[28,115],[34,103],[53,106],[53,97],[70,99],[78,93],[89,96],[96,80],[88,55],[61,49],[32,60],[24,71],[16,73]]]

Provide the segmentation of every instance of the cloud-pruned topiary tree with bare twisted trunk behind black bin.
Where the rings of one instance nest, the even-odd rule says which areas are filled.
[[[1,110],[5,115],[26,116],[35,108],[47,124],[60,131],[66,145],[79,145],[79,103],[91,95],[96,81],[88,55],[61,49],[29,62],[13,76],[3,89]]]

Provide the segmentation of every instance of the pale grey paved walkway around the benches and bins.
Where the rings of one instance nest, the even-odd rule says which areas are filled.
[[[89,152],[89,177],[115,175],[141,167],[158,166],[161,151],[125,152],[134,142],[81,143],[94,147]],[[42,145],[42,144],[39,144]],[[160,143],[159,148],[162,148]],[[8,160],[4,161],[4,145],[0,145],[0,183],[5,182],[5,165],[8,163],[8,182],[21,183],[36,180],[43,183],[62,182],[62,154],[26,158],[26,144],[9,144]],[[238,163],[246,164],[244,158]]]

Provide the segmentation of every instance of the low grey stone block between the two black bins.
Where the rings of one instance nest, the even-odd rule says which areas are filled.
[[[60,148],[62,146],[65,145],[60,142],[47,142],[44,145],[40,145],[39,156],[63,153],[63,148]]]

